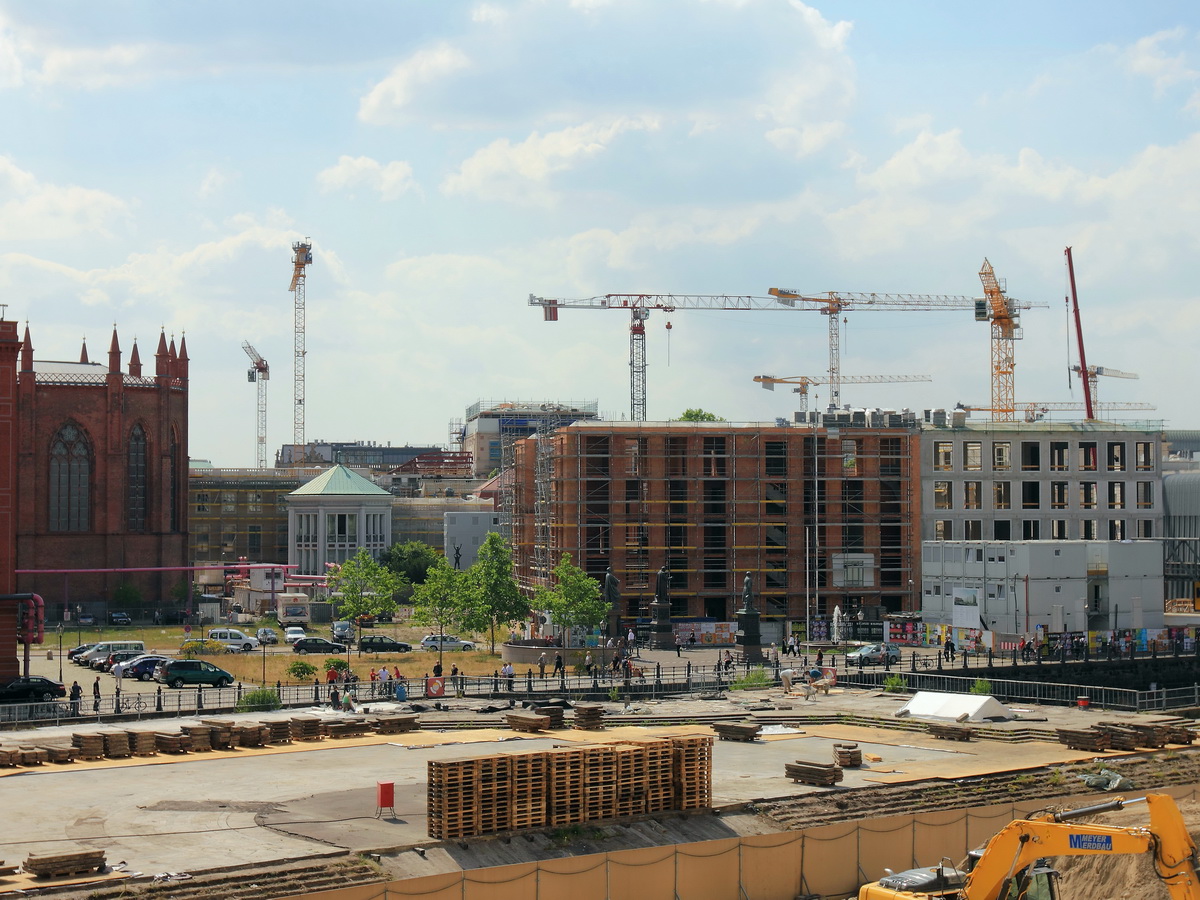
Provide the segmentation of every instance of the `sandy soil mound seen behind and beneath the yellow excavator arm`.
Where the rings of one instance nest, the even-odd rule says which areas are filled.
[[[1200,802],[1182,800],[1180,811],[1188,824],[1192,840],[1200,838]],[[1100,824],[1145,826],[1150,818],[1145,804],[1120,812],[1108,812],[1092,820]],[[1060,882],[1064,900],[1157,900],[1169,898],[1166,887],[1154,874],[1150,853],[1141,856],[1060,857],[1055,868],[1062,872]]]

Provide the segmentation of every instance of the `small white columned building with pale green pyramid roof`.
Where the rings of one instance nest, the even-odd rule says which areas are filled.
[[[376,559],[391,546],[392,497],[334,466],[288,496],[288,563],[298,575],[324,575],[360,550]]]

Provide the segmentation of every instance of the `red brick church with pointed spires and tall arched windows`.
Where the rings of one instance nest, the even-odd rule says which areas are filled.
[[[91,362],[86,344],[65,362],[35,359],[29,328],[18,338],[17,323],[0,320],[0,594],[40,594],[50,629],[77,607],[100,618],[124,582],[157,607],[186,572],[16,570],[184,565],[186,342],[176,350],[160,335],[154,374],[143,374],[137,342],[122,372],[115,328],[107,365]],[[0,604],[10,642],[13,606]],[[12,665],[0,654],[0,677]]]

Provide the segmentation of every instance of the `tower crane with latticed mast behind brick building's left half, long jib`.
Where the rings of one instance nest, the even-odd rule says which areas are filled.
[[[604,294],[581,300],[529,295],[529,306],[540,306],[546,322],[558,322],[559,310],[626,310],[629,322],[630,419],[646,421],[646,319],[650,310],[766,310],[779,312],[774,298],[731,294]],[[786,310],[786,307],[785,307]]]

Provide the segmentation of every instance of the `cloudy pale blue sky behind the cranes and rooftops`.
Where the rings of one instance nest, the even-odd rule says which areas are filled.
[[[190,450],[445,445],[476,401],[630,415],[629,314],[529,295],[982,296],[1022,313],[1019,402],[1082,401],[1073,247],[1114,419],[1200,427],[1200,6],[911,1],[0,0],[0,302],[38,359],[186,335]],[[667,328],[670,323],[670,329]],[[652,312],[647,418],[791,418],[812,310]],[[988,406],[970,311],[850,310],[854,407]],[[814,386],[810,404],[828,402]],[[985,414],[977,414],[985,416]],[[1054,418],[1080,418],[1056,413]]]

